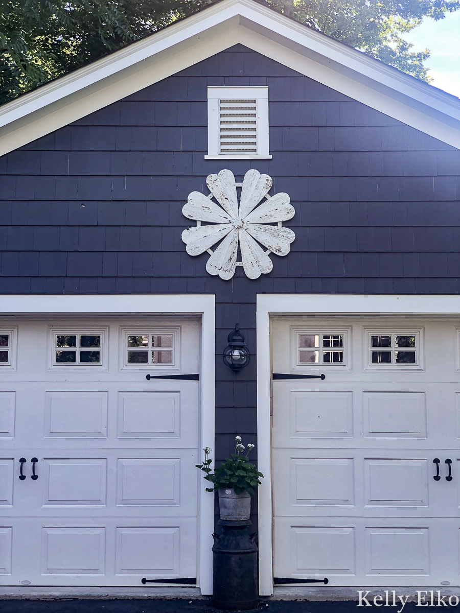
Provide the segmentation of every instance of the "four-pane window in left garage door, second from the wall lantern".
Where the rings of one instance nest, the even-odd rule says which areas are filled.
[[[50,368],[53,370],[107,368],[107,328],[53,328],[50,345]]]

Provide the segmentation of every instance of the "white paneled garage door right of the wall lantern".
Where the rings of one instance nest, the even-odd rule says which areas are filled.
[[[459,328],[273,321],[275,577],[460,584]]]

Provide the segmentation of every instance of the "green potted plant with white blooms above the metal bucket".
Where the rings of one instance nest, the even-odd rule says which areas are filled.
[[[254,445],[248,445],[248,451],[243,454],[244,449],[241,444],[241,438],[236,437],[237,445],[235,447],[235,453],[231,454],[231,458],[226,458],[225,462],[222,462],[218,468],[212,473],[211,463],[209,459],[210,449],[205,447],[203,450],[205,453],[205,460],[201,464],[196,464],[196,468],[200,468],[205,475],[206,481],[210,481],[213,487],[207,487],[207,492],[215,492],[221,487],[232,487],[235,493],[242,494],[248,492],[251,496],[254,495],[254,490],[258,485],[261,485],[259,477],[263,478],[263,474],[259,473],[255,465],[249,462],[247,455],[254,447]]]

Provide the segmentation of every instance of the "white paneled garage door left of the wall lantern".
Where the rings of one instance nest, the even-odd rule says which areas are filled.
[[[1,584],[196,577],[199,322],[1,326]]]

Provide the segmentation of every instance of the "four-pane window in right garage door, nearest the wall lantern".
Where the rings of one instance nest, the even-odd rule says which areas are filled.
[[[294,330],[294,369],[348,368],[348,329],[321,326]]]

